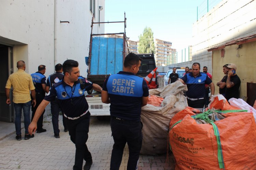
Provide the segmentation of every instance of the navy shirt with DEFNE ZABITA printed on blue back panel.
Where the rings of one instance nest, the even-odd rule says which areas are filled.
[[[108,91],[111,116],[140,121],[142,97],[148,96],[148,87],[143,78],[120,71],[106,78],[102,89]]]

